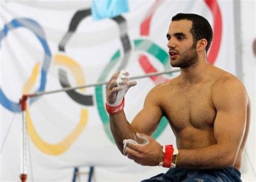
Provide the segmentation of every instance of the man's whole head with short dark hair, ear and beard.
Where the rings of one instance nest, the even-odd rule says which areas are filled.
[[[199,15],[179,13],[172,18],[166,37],[171,65],[188,68],[196,65],[199,58],[206,58],[212,29],[207,20]]]

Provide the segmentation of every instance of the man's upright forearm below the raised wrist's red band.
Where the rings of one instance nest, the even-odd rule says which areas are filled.
[[[110,115],[110,129],[116,141],[117,147],[123,153],[123,140],[134,139],[136,140],[136,131],[132,125],[126,120],[124,111]]]

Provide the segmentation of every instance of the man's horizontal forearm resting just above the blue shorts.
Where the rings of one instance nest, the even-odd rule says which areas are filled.
[[[233,147],[220,144],[198,149],[180,149],[177,166],[186,169],[222,169],[232,167],[236,155]]]

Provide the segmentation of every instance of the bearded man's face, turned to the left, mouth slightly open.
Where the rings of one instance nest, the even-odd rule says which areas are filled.
[[[179,20],[171,22],[167,33],[169,55],[172,67],[188,68],[198,61],[196,44],[190,33],[192,22]]]

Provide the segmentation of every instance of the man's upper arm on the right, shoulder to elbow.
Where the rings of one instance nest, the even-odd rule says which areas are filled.
[[[225,81],[215,90],[213,104],[217,110],[214,121],[217,144],[237,152],[246,125],[247,93],[244,86],[236,80]]]

